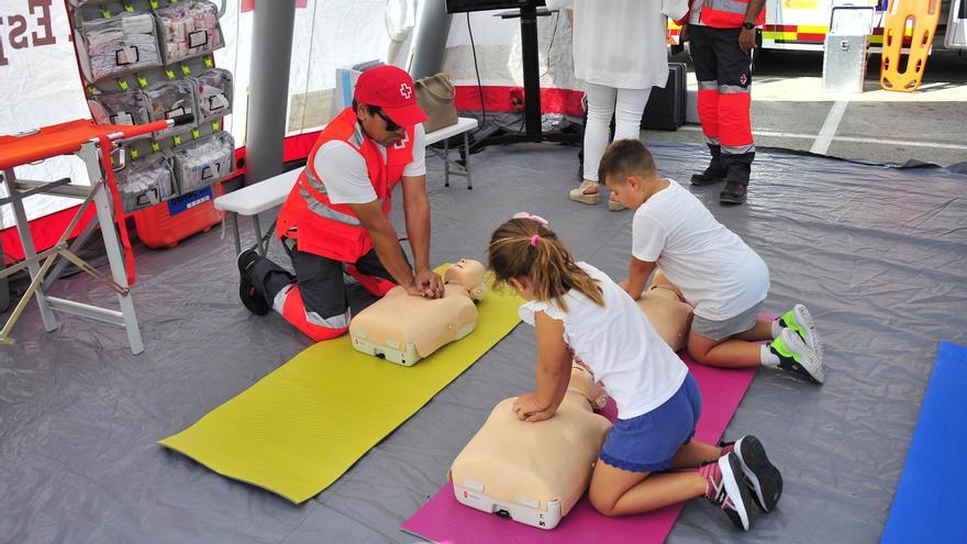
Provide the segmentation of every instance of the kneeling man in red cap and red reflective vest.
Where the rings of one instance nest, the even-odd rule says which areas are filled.
[[[344,271],[378,297],[396,285],[414,297],[443,296],[443,280],[430,268],[426,119],[405,71],[378,66],[359,76],[353,106],[319,135],[279,212],[278,235],[296,274],[243,252],[245,308],[259,315],[275,309],[319,342],[348,330]],[[415,269],[389,221],[400,181]]]

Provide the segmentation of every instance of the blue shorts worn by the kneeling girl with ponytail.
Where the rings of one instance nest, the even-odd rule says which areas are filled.
[[[668,470],[675,454],[694,435],[701,413],[702,393],[689,373],[678,391],[660,407],[615,421],[601,449],[601,460],[632,473]]]

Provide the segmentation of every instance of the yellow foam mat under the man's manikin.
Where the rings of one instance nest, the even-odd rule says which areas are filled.
[[[301,503],[513,330],[521,302],[488,289],[476,330],[412,367],[359,353],[348,335],[315,344],[158,443]]]

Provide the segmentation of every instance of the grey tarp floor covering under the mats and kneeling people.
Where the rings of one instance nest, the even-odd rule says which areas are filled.
[[[703,166],[702,146],[653,149],[679,181]],[[488,148],[473,156],[473,191],[462,178],[444,188],[432,160],[434,262],[482,257],[498,222],[526,210],[548,219],[578,258],[623,277],[631,212],[570,202],[575,156],[555,145]],[[768,263],[767,311],[809,304],[827,370],[816,387],[762,369],[726,431],[755,433],[769,448],[786,480],[778,510],[742,534],[693,500],[669,542],[878,541],[937,342],[967,343],[967,176],[766,151],[746,206],[721,207],[718,187],[691,190]],[[273,253],[280,256],[277,244]],[[444,484],[490,409],[533,384],[533,331],[522,325],[294,507],[155,441],[285,364],[308,338],[241,306],[231,234],[218,227],[174,249],[141,247],[137,274],[142,355],[131,355],[120,329],[79,318],[44,333],[35,304],[14,329],[19,344],[0,349],[0,541],[412,543],[400,523]],[[110,300],[81,276],[55,293],[65,290]]]

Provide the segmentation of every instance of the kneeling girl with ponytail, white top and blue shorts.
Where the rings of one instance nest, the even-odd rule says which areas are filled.
[[[782,477],[762,443],[752,435],[724,447],[692,440],[702,401],[688,367],[624,289],[575,262],[547,221],[518,213],[493,231],[487,259],[494,287],[512,288],[526,301],[521,319],[537,336],[537,390],[514,401],[518,418],[554,417],[573,358],[618,404],[591,477],[598,511],[642,513],[703,496],[748,530],[753,500],[773,509]]]

